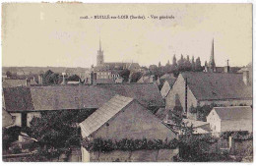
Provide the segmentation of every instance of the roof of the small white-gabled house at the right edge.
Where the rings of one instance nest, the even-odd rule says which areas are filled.
[[[252,120],[250,106],[215,107],[214,110],[221,120]]]

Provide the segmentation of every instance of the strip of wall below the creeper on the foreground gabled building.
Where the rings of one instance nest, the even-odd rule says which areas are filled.
[[[88,152],[84,147],[82,147],[82,150],[82,161],[84,162],[167,162],[173,161],[173,156],[178,154],[178,148],[136,151],[115,150],[106,153]]]

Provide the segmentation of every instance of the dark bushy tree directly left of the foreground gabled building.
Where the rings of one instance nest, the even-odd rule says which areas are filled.
[[[93,110],[60,110],[47,111],[40,118],[31,121],[31,136],[38,144],[47,149],[69,148],[70,145],[80,146],[81,135],[76,123],[89,117]]]

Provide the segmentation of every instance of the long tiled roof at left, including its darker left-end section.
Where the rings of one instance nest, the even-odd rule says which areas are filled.
[[[40,111],[98,108],[114,92],[88,85],[4,88],[7,111]]]

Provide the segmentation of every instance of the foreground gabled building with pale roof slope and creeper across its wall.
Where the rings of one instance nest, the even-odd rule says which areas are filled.
[[[164,141],[165,139],[171,140],[176,138],[176,135],[138,100],[121,95],[115,95],[108,102],[104,103],[96,112],[80,123],[80,127],[82,137],[91,140],[101,138],[119,141],[123,138],[147,138]],[[96,156],[96,152],[88,151],[83,146],[81,150],[82,161],[115,161],[117,158],[120,161],[136,161],[136,159],[131,159],[131,156],[135,154],[131,151],[115,150],[108,153],[110,155],[106,158],[107,153],[100,154],[98,152],[99,154]],[[174,153],[173,150],[171,152]],[[129,153],[131,154],[129,155]],[[145,158],[151,157],[152,161],[154,161],[157,156],[152,156],[152,153],[156,153],[156,151],[143,150],[137,155],[142,155],[140,157]]]

